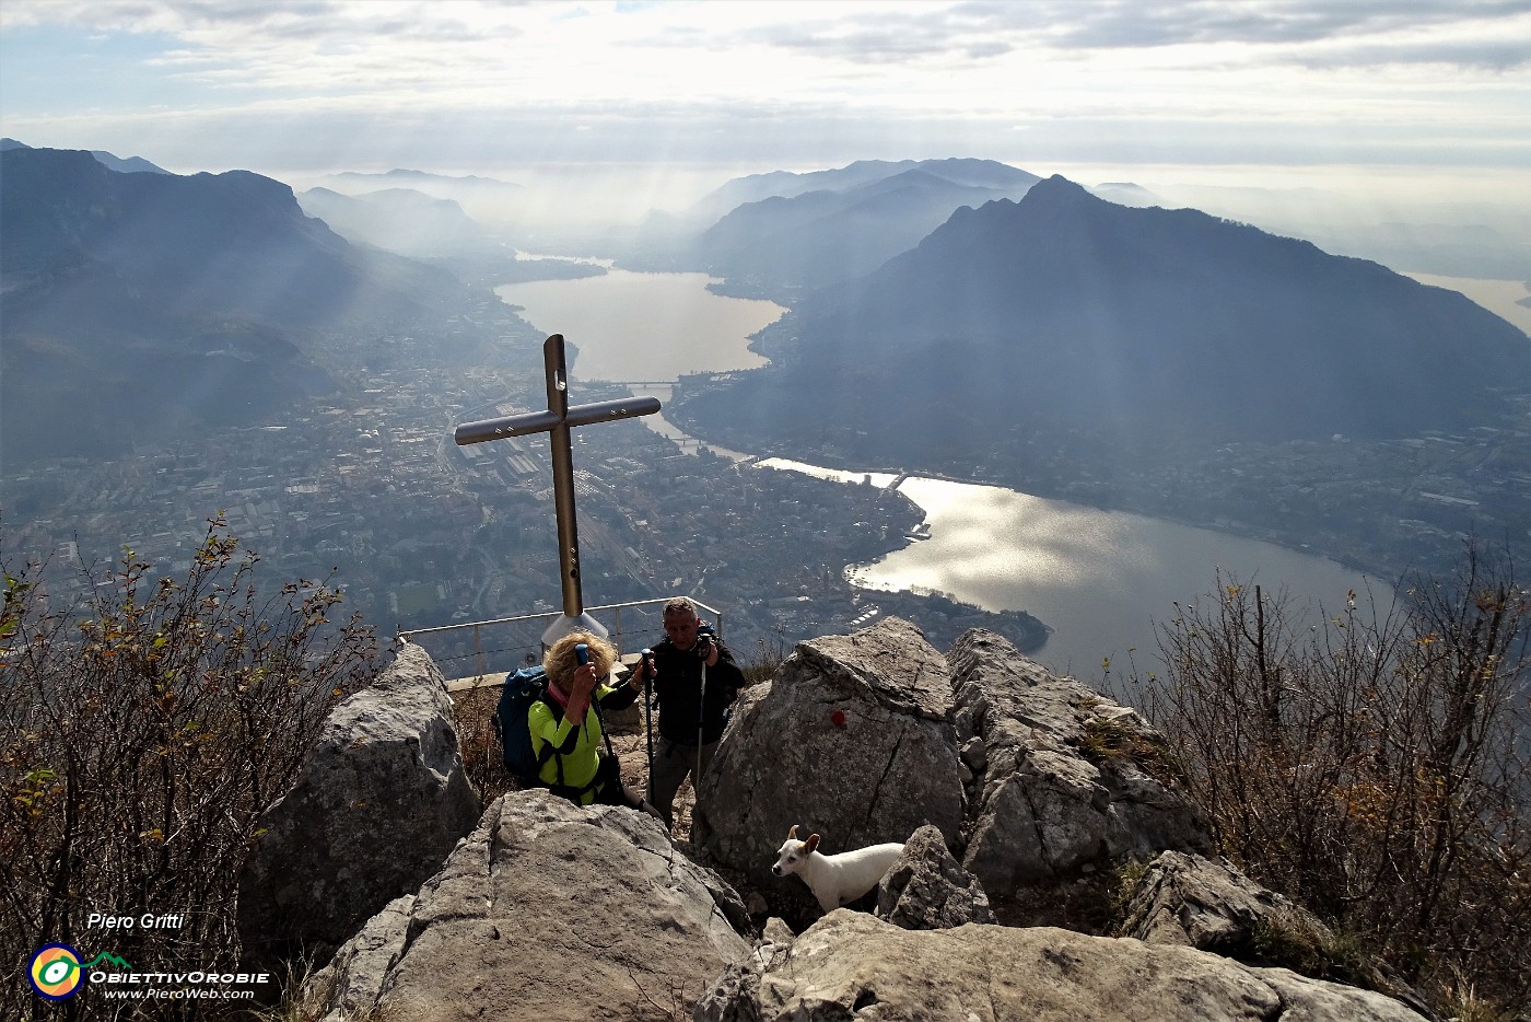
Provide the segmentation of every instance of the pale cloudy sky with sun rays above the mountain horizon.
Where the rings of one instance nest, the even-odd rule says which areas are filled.
[[[983,156],[1503,193],[1531,0],[0,0],[0,132],[277,176]]]

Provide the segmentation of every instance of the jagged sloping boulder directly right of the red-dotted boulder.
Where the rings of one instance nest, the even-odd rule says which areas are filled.
[[[1157,754],[1160,735],[1134,711],[989,631],[968,631],[946,659],[972,769],[963,866],[991,896],[1124,857],[1213,850],[1205,815]]]

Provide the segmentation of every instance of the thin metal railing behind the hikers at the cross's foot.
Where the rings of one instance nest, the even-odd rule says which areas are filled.
[[[652,621],[645,622],[635,628],[623,628],[622,611],[629,608],[652,607],[652,617],[660,617],[658,611],[663,610],[669,598],[655,599],[635,599],[625,604],[605,604],[602,607],[586,607],[585,613],[591,614],[611,633],[608,637],[611,644],[617,648],[617,653],[628,653],[623,648],[625,639],[641,639],[640,642],[632,642],[632,650],[637,651],[643,647],[651,647],[664,637],[663,624],[652,624]],[[723,611],[717,607],[709,607],[701,601],[694,599],[697,604],[697,611],[700,614],[710,616],[712,627],[717,630],[718,637],[723,633]],[[513,671],[525,663],[534,663],[542,657],[542,630],[554,619],[559,617],[560,611],[548,610],[536,614],[517,614],[514,617],[495,617],[491,621],[464,621],[458,625],[436,625],[433,628],[409,628],[398,631],[400,639],[407,639],[409,642],[416,642],[419,645],[435,645],[433,639],[442,639],[442,648],[432,653],[432,659],[441,667],[441,671],[449,677],[479,677],[485,674],[499,674],[502,671]],[[629,614],[629,624],[634,617],[641,614]],[[488,636],[490,645],[485,645],[485,634]],[[426,637],[427,642],[421,642]],[[467,647],[467,639],[472,637],[472,650]],[[453,642],[456,640],[456,642]],[[458,660],[473,660],[472,671],[459,671],[453,674],[449,665]],[[517,662],[521,660],[521,662]],[[493,663],[493,667],[491,667]]]

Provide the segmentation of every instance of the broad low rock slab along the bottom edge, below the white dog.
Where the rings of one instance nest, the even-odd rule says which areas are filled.
[[[1052,927],[903,930],[836,909],[790,942],[773,935],[707,991],[697,1022],[1421,1020],[1382,994],[1285,968]]]

